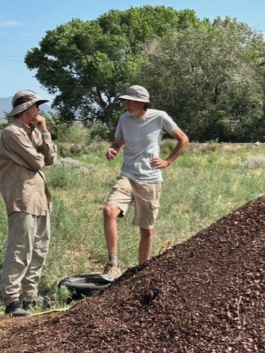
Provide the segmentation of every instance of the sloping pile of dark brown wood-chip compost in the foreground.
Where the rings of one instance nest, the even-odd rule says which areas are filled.
[[[6,319],[0,352],[265,352],[264,233],[262,196],[68,311]]]

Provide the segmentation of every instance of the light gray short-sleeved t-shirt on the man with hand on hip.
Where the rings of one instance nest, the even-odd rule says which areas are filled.
[[[115,138],[124,140],[124,162],[120,176],[146,183],[163,181],[161,170],[151,167],[150,160],[159,156],[163,134],[175,128],[175,121],[162,110],[147,109],[141,118],[122,114],[115,132]]]

